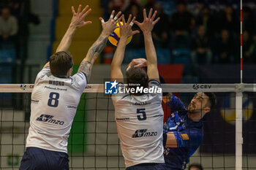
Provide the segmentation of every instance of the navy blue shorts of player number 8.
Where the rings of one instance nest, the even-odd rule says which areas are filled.
[[[27,147],[20,162],[20,170],[68,169],[69,156],[67,153],[44,150],[38,147]]]

